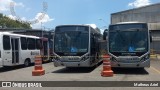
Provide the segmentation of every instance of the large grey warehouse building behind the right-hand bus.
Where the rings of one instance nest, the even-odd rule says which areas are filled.
[[[134,21],[148,23],[153,39],[151,49],[160,53],[160,3],[111,14],[111,24]]]

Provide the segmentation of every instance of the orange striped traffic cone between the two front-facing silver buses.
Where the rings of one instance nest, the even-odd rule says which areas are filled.
[[[101,76],[110,77],[113,76],[113,71],[111,70],[110,56],[103,56],[103,71],[101,72]]]

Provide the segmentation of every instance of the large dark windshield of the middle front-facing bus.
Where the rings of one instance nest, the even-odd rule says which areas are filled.
[[[64,29],[64,27],[63,27]],[[68,29],[68,27],[67,27]],[[56,53],[86,53],[88,51],[88,31],[63,30],[55,33],[54,51]],[[85,30],[85,29],[84,29]]]

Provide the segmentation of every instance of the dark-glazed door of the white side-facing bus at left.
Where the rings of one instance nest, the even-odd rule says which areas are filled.
[[[12,63],[18,64],[19,63],[19,39],[11,38],[11,45],[12,45]]]

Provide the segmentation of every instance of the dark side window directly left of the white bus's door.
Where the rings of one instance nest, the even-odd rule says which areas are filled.
[[[11,46],[10,46],[10,37],[9,36],[6,36],[4,35],[3,36],[3,49],[4,50],[10,50],[11,49]]]

